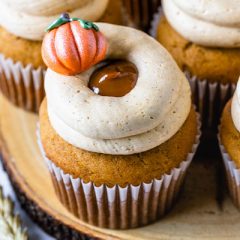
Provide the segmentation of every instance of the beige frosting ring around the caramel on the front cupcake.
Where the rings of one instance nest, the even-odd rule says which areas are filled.
[[[137,84],[123,97],[104,97],[87,87],[97,66],[76,76],[48,69],[50,122],[64,140],[92,152],[133,154],[154,148],[171,138],[189,114],[187,79],[169,53],[145,33],[97,25],[109,44],[107,58],[135,64]]]

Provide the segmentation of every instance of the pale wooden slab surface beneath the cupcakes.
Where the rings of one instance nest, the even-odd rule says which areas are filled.
[[[177,205],[155,224],[113,231],[76,219],[54,193],[36,143],[36,123],[36,115],[15,108],[0,96],[1,149],[6,168],[16,190],[28,199],[25,207],[30,215],[31,211],[41,211],[42,221],[48,216],[47,224],[41,224],[45,228],[55,221],[65,225],[65,231],[69,232],[67,229],[70,228],[101,239],[239,239],[240,213],[225,192],[223,174],[219,175],[218,170],[220,158],[194,161]],[[31,210],[29,204],[35,208]],[[41,219],[38,222],[41,223]]]

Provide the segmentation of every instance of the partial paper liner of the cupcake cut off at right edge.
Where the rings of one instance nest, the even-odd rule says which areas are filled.
[[[219,134],[218,142],[226,170],[229,193],[234,205],[240,210],[240,169],[236,167],[236,164],[227,153]]]

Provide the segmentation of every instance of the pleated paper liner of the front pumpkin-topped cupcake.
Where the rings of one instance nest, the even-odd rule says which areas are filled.
[[[142,182],[137,186],[128,184],[126,187],[108,187],[105,184],[96,186],[94,182],[84,182],[81,178],[64,173],[46,157],[39,130],[37,135],[55,192],[62,204],[77,218],[89,224],[129,229],[154,222],[171,209],[198,147],[200,125],[198,115],[198,133],[192,151],[177,168],[151,182]]]

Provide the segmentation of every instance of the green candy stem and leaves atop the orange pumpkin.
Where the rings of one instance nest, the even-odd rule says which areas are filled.
[[[63,24],[72,22],[72,21],[78,21],[80,22],[81,26],[85,29],[94,29],[95,31],[99,31],[99,28],[96,24],[90,21],[83,20],[81,18],[70,18],[67,13],[63,13],[60,18],[55,20],[53,23],[51,23],[48,28],[46,29],[46,32],[49,32],[53,30],[54,28],[57,28]]]

